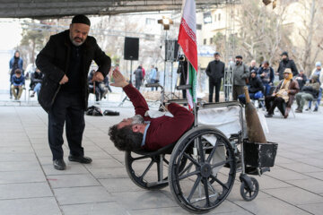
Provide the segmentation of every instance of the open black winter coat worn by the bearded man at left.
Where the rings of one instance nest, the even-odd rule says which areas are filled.
[[[59,82],[62,80],[69,68],[69,58],[71,56],[71,46],[73,44],[69,38],[69,30],[65,30],[53,35],[48,40],[46,46],[39,52],[36,64],[41,73],[44,73],[44,80],[39,92],[39,104],[45,111],[49,112],[57,93],[60,90]],[[99,65],[98,71],[105,77],[109,73],[111,59],[106,56],[98,46],[96,39],[88,36],[83,43],[82,62],[82,97],[84,110],[88,106],[88,72],[92,60]]]

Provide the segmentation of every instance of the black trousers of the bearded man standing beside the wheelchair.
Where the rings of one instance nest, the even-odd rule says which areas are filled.
[[[63,159],[64,124],[70,154],[83,156],[82,138],[85,122],[81,95],[76,96],[74,94],[60,92],[49,111],[48,142],[53,159]]]

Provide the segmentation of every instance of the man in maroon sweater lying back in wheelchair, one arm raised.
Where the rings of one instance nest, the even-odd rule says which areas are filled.
[[[110,140],[118,150],[159,150],[177,142],[193,124],[193,114],[175,103],[167,106],[173,117],[147,116],[149,107],[142,94],[118,70],[113,72],[113,78],[111,86],[123,88],[135,107],[135,116],[109,128]]]

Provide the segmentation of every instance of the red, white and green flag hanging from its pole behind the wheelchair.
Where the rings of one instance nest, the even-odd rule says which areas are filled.
[[[188,58],[187,84],[192,86],[187,90],[188,107],[193,108],[196,103],[196,77],[197,77],[197,44],[196,44],[196,2],[187,0],[183,7],[183,16],[179,26],[179,46]]]

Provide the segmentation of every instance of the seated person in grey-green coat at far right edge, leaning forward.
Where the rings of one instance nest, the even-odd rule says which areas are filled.
[[[306,83],[302,87],[301,92],[296,94],[297,108],[296,113],[302,113],[302,108],[304,107],[305,100],[312,101],[313,99],[318,99],[319,97],[319,76],[312,75],[310,82]]]

